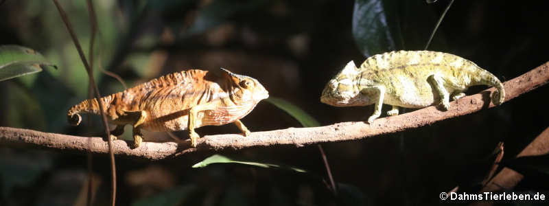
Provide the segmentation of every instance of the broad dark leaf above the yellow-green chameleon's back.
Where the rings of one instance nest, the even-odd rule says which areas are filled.
[[[353,38],[358,48],[369,57],[395,50],[425,48],[438,15],[423,1],[357,0],[353,10]],[[434,50],[444,47],[437,32]]]

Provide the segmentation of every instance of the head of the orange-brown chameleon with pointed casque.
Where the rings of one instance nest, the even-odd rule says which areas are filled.
[[[231,82],[233,82],[235,90],[233,90],[231,95],[237,97],[240,101],[248,102],[249,100],[253,100],[254,102],[259,102],[269,97],[269,92],[267,89],[265,89],[265,87],[263,87],[263,85],[261,85],[261,83],[259,83],[259,81],[255,78],[238,75],[223,68],[221,69],[228,74]]]

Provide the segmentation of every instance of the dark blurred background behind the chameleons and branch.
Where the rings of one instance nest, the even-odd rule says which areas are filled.
[[[61,3],[88,52],[91,32],[86,2]],[[401,35],[413,31],[407,36],[410,38],[424,30],[412,36],[413,41],[405,42],[404,49],[423,49],[447,3],[417,1],[426,12],[414,12],[406,3],[399,5],[401,12],[407,12],[400,17],[404,25]],[[319,102],[331,76],[349,60],[359,64],[365,59],[351,34],[353,4],[95,1],[100,32],[94,52],[96,80],[104,95],[124,89],[117,80],[98,71],[99,63],[119,74],[128,86],[174,71],[224,67],[256,78],[271,96],[303,108],[323,125],[365,121],[373,106],[336,108]],[[549,60],[548,5],[545,1],[456,1],[430,49],[462,56],[500,80],[510,80]],[[406,22],[425,18],[428,30],[406,26]],[[87,98],[88,83],[51,1],[8,0],[0,5],[0,45],[7,44],[36,49],[59,69],[0,82],[0,126],[71,135],[102,134],[97,116],[91,123],[84,116],[78,127],[66,123],[67,109]],[[468,94],[482,89],[485,87],[471,88]],[[182,198],[179,205],[439,204],[441,192],[482,181],[491,166],[482,160],[499,141],[505,142],[504,159],[510,159],[549,125],[548,90],[539,87],[501,106],[403,133],[323,144],[334,179],[340,183],[338,196],[312,174],[232,164],[191,168],[213,155],[204,152],[155,162],[117,158],[117,205],[151,200],[153,205],[164,205],[154,201],[159,195]],[[300,126],[268,102],[260,102],[242,122],[252,131]],[[200,135],[238,132],[233,125],[198,129]],[[294,165],[326,179],[317,146],[221,153]],[[110,191],[108,159],[95,155],[92,163],[97,184],[95,203],[106,205]],[[84,154],[0,147],[1,205],[85,203],[87,164]],[[529,175],[513,190],[548,191],[548,180],[547,176]]]

